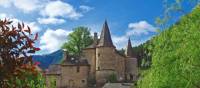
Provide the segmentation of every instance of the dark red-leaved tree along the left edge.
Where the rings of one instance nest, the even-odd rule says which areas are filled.
[[[19,84],[26,76],[37,77],[31,54],[39,51],[34,47],[38,34],[35,36],[24,23],[12,26],[12,21],[0,20],[0,87],[30,87]],[[26,74],[26,75],[25,75]],[[36,76],[34,76],[36,75]],[[30,80],[29,80],[30,81]]]

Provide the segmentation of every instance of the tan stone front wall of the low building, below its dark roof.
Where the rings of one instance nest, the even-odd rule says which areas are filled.
[[[87,88],[89,66],[62,65],[61,86],[67,88]]]

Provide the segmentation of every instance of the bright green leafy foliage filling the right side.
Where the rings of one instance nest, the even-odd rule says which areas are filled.
[[[200,88],[200,6],[156,36],[139,88]]]

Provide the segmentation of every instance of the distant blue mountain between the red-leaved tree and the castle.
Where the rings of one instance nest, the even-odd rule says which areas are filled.
[[[58,50],[46,55],[33,55],[33,62],[40,62],[39,67],[47,69],[51,64],[59,64],[62,61],[63,50]]]

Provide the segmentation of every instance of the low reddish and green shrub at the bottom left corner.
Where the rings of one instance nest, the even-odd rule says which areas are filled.
[[[16,69],[16,77],[11,78],[7,82],[9,88],[45,88],[45,79],[43,75],[36,69],[38,64],[34,65],[24,64]]]

